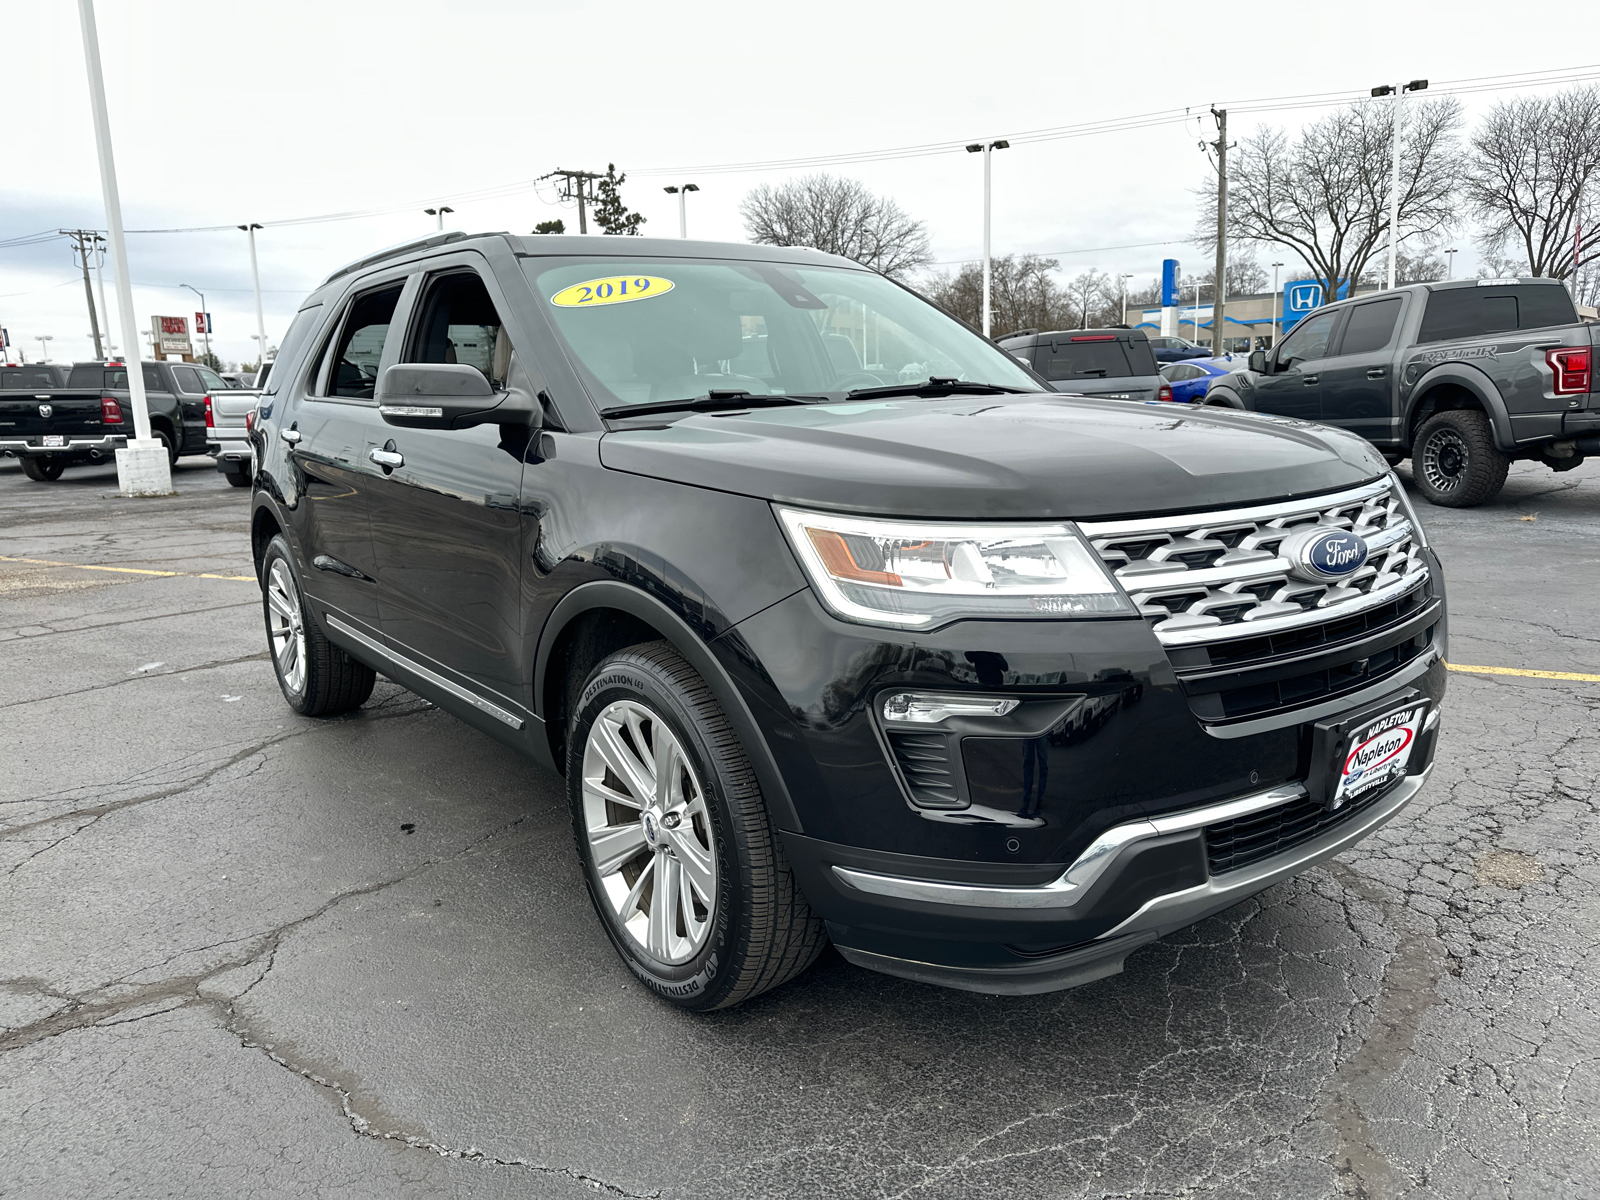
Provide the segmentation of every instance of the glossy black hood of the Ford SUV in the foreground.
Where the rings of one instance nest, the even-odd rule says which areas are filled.
[[[600,461],[786,504],[949,520],[1232,507],[1389,469],[1365,440],[1307,421],[1048,395],[691,413],[606,434]]]

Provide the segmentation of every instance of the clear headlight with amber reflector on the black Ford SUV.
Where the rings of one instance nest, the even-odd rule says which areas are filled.
[[[1134,616],[1069,523],[942,525],[778,509],[822,603],[846,621]]]

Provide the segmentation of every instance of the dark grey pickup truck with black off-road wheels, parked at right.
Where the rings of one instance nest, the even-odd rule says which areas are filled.
[[[1515,459],[1571,470],[1600,454],[1595,328],[1557,280],[1413,283],[1317,309],[1205,402],[1360,434],[1410,458],[1430,502],[1464,509]]]

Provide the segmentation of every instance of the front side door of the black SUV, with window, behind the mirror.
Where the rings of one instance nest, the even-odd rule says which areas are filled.
[[[422,282],[398,362],[470,363],[499,390],[523,386],[493,277],[469,262]],[[496,288],[491,294],[491,288]],[[526,704],[522,664],[522,458],[526,429],[384,426],[390,466],[373,490],[384,637],[475,691]]]

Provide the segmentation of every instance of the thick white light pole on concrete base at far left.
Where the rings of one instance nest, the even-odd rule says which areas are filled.
[[[122,195],[117,190],[117,162],[110,144],[110,115],[106,109],[106,77],[101,74],[99,30],[94,0],[78,0],[83,27],[83,62],[90,77],[90,109],[94,114],[94,147],[99,152],[101,192],[106,197],[106,232],[117,269],[117,309],[122,322],[123,360],[128,363],[128,402],[133,408],[133,442],[117,451],[117,485],[125,496],[165,496],[173,490],[166,448],[150,437],[150,408],[144,395],[139,363],[139,330],[133,320],[133,283],[128,275],[128,240],[122,232]],[[130,56],[131,62],[138,59]]]

